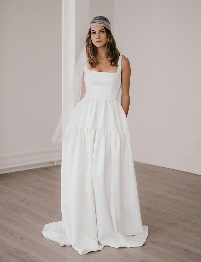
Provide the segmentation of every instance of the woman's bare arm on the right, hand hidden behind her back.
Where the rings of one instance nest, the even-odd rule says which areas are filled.
[[[129,106],[130,106],[130,76],[131,76],[131,67],[130,62],[127,57],[122,55],[121,58],[121,106],[127,116]]]

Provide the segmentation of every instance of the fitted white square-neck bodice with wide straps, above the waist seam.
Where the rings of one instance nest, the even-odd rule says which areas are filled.
[[[117,72],[115,73],[92,71],[89,70],[88,61],[84,64],[86,97],[118,99],[121,88],[121,58],[122,55],[119,56]]]

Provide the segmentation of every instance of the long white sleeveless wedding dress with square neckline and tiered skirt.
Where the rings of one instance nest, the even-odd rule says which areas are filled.
[[[85,97],[65,129],[61,164],[61,221],[43,236],[80,255],[110,247],[140,247],[142,225],[130,133],[123,107],[121,58],[116,73],[84,65]]]

